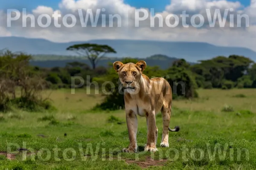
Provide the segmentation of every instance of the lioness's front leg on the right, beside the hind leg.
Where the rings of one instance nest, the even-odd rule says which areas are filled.
[[[156,145],[156,119],[154,111],[146,114],[148,134],[147,134],[147,144],[144,148],[145,151],[155,152],[157,151]]]

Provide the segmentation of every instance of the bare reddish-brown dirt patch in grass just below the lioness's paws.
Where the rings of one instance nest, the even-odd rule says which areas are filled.
[[[135,161],[135,160],[125,160],[127,164],[137,164],[141,168],[147,168],[150,166],[163,166],[166,163],[167,159],[154,160],[150,156],[145,158],[145,161]]]

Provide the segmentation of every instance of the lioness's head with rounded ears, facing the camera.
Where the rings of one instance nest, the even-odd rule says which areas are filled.
[[[121,81],[121,88],[125,91],[131,92],[136,91],[138,88],[141,76],[145,70],[146,62],[139,61],[136,64],[127,63],[123,64],[122,62],[116,61],[113,63],[113,68],[119,74],[119,79]]]

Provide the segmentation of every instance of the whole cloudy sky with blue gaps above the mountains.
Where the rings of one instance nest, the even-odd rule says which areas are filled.
[[[14,9],[12,13],[11,9]],[[90,10],[94,18],[99,14],[96,27],[90,22]],[[141,12],[136,15],[138,10]],[[150,14],[152,10],[154,13]],[[217,19],[211,25],[218,10],[219,19],[226,19],[226,22]],[[184,12],[188,15],[185,24]],[[58,19],[52,14],[58,14]],[[35,21],[31,20],[32,15]],[[51,17],[49,25],[47,17],[42,17],[46,15]],[[121,21],[118,17],[110,20],[109,16],[116,15]],[[154,16],[163,20],[154,20]],[[85,27],[82,23],[86,17],[89,19]],[[38,22],[40,18],[45,28]],[[136,23],[139,23],[137,27]],[[92,39],[199,41],[256,51],[256,0],[2,0],[0,36],[44,38],[54,42]]]

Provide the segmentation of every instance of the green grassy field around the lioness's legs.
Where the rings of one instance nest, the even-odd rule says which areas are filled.
[[[198,92],[173,102],[170,127],[180,131],[169,133],[169,148],[160,147],[158,114],[158,152],[144,152],[147,127],[138,117],[139,152],[131,154],[120,152],[129,144],[124,111],[92,113],[103,96],[52,91],[58,111],[0,114],[0,169],[256,169],[256,89]]]

